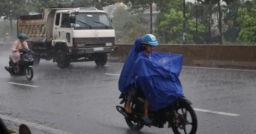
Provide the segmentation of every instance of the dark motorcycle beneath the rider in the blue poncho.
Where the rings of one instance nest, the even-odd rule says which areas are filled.
[[[122,99],[120,104],[124,104],[124,107],[127,102],[127,94],[122,93],[119,96],[119,99]],[[160,109],[159,111],[152,112],[150,108],[148,109],[148,115],[151,119],[151,123],[145,123],[142,120],[143,113],[144,113],[144,103],[145,103],[145,95],[143,91],[138,91],[137,95],[134,96],[134,100],[131,102],[131,110],[132,113],[128,114],[122,106],[116,105],[116,110],[119,111],[123,116],[125,116],[125,121],[129,128],[132,130],[140,130],[144,127],[144,125],[148,126],[149,128],[155,126],[157,128],[163,128],[163,125],[168,122],[168,128],[172,127],[172,131],[174,134],[181,134],[178,131],[178,128],[183,130],[185,134],[195,134],[197,131],[197,117],[195,111],[191,107],[192,102],[189,101],[186,97],[181,96],[177,97],[177,99],[166,108]],[[177,111],[181,109],[182,114],[178,113]],[[183,109],[186,111],[184,112]],[[186,120],[186,114],[189,111],[189,114],[192,117],[192,123],[189,123]],[[135,125],[134,123],[137,123]],[[186,132],[186,125],[192,125],[192,129],[190,133]]]

